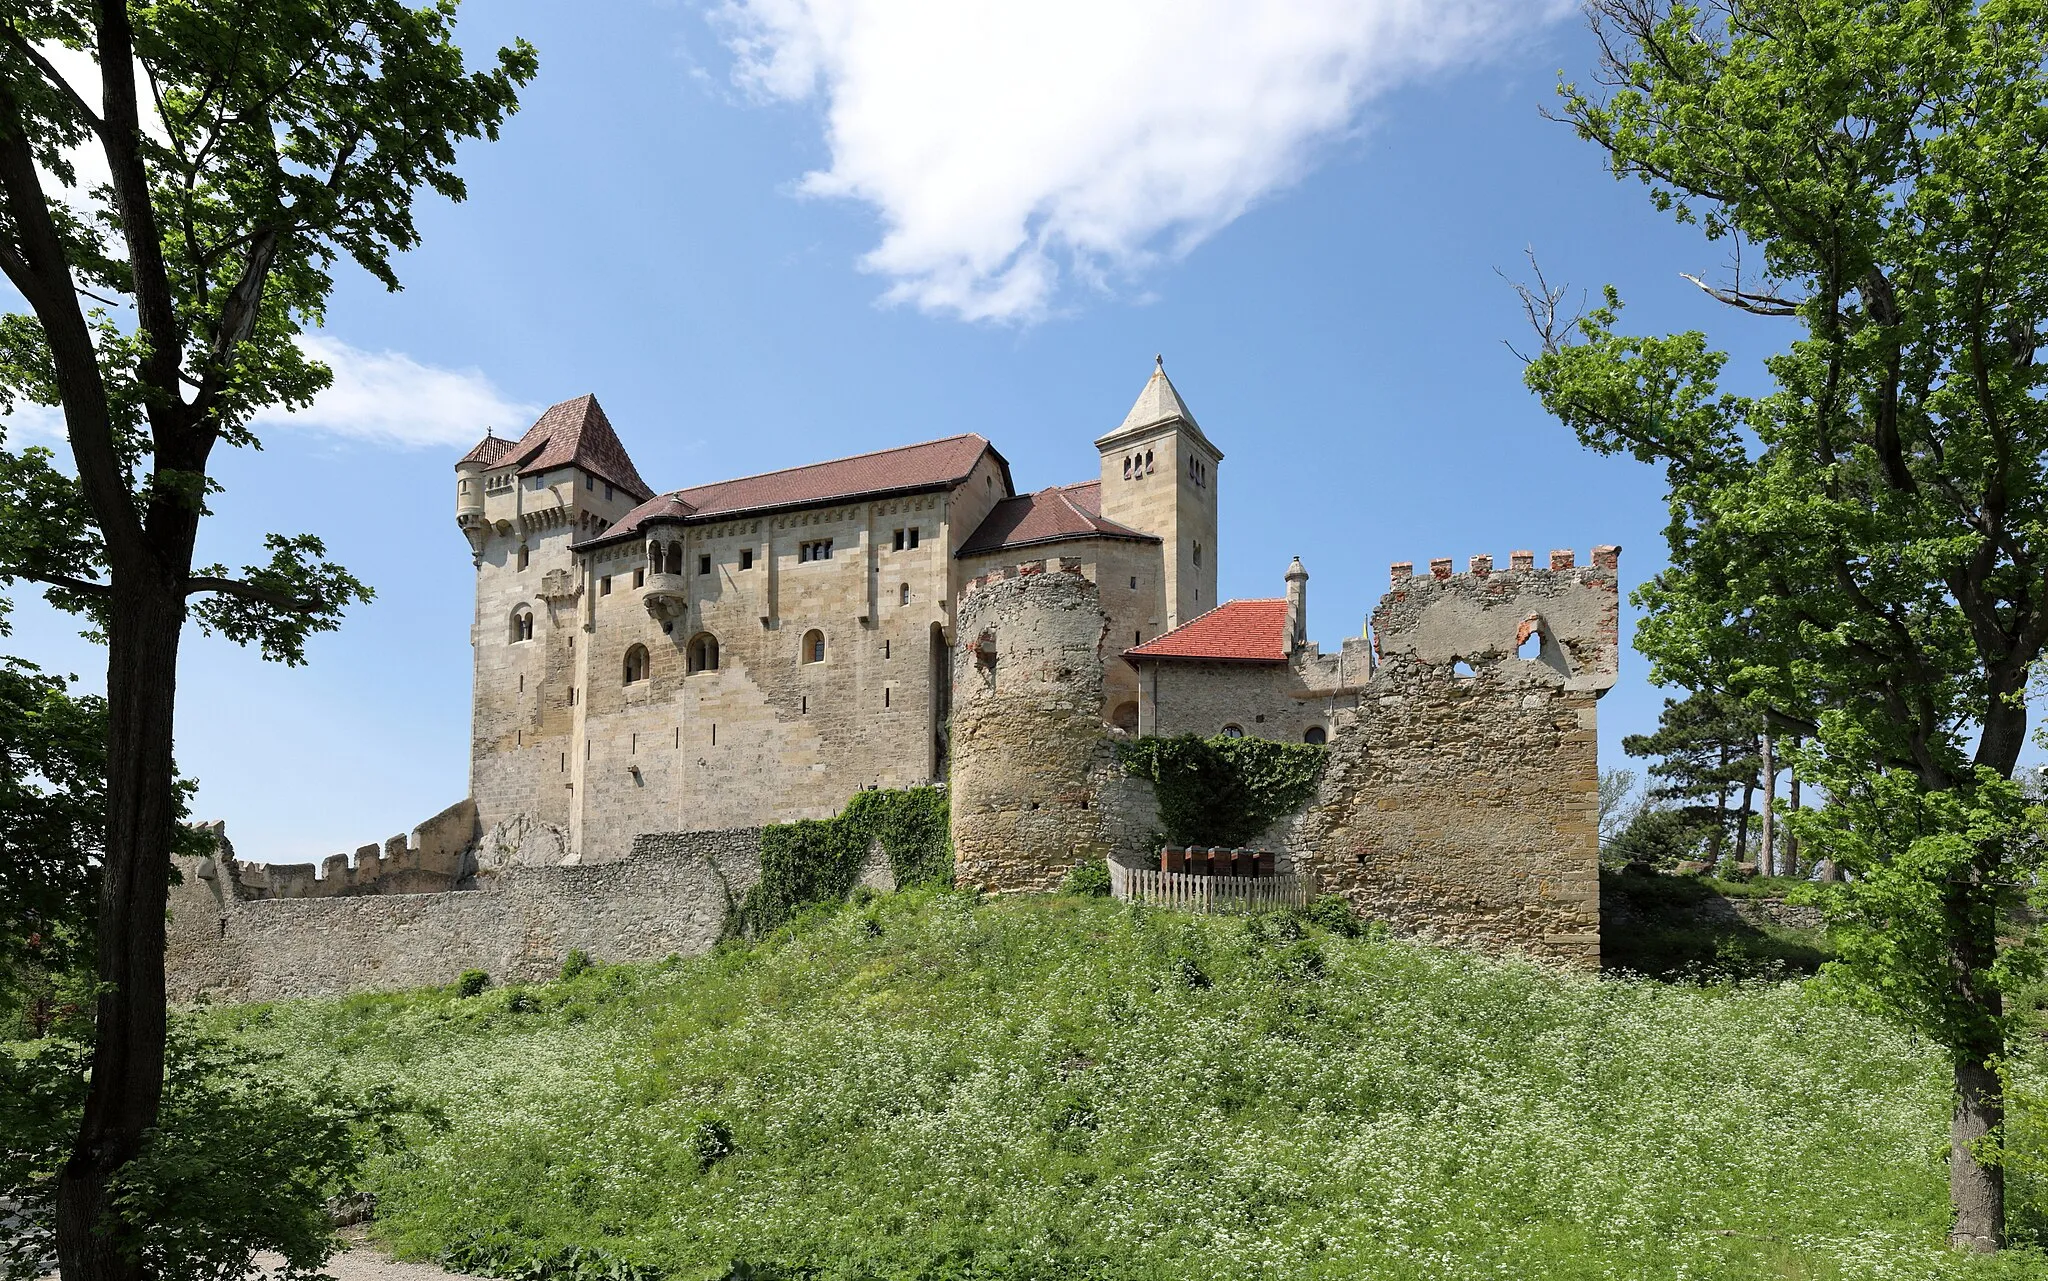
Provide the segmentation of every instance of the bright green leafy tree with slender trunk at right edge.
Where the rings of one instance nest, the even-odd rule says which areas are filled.
[[[1735,396],[1704,334],[1624,334],[1612,289],[1563,322],[1538,277],[1528,383],[1585,445],[1663,465],[1671,568],[1636,644],[1806,736],[1827,801],[1796,828],[1853,873],[1831,976],[1950,1051],[1952,1242],[1995,1250],[2003,998],[2040,967],[1999,922],[2042,824],[2013,767],[2048,642],[2048,4],[1591,14],[1602,84],[1565,84],[1561,117],[1735,246],[1696,283],[1786,342]]]

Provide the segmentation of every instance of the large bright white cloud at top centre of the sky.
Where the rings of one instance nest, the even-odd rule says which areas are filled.
[[[821,96],[801,191],[872,205],[891,301],[1034,320],[1186,254],[1386,90],[1571,0],[725,0],[737,80]]]

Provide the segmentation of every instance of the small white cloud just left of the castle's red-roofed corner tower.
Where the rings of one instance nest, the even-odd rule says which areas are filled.
[[[268,410],[256,422],[426,449],[475,445],[487,426],[518,437],[541,412],[508,400],[479,369],[436,369],[403,353],[360,350],[326,334],[305,334],[299,346],[334,369],[334,385],[295,414]]]

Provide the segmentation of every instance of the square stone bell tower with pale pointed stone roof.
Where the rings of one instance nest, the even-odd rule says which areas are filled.
[[[1096,441],[1102,453],[1102,514],[1161,545],[1165,627],[1217,607],[1217,471],[1208,443],[1180,391],[1155,361],[1122,426]]]

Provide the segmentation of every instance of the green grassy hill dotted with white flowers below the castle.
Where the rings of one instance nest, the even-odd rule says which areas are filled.
[[[1798,984],[911,892],[205,1019],[436,1103],[375,1168],[379,1232],[479,1273],[2048,1277],[1939,1248],[1944,1064]]]

